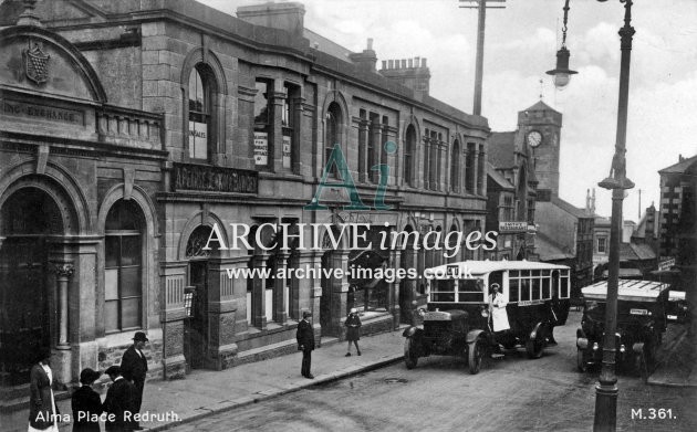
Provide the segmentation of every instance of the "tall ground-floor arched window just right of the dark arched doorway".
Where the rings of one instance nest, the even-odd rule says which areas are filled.
[[[142,327],[143,231],[145,221],[133,200],[119,200],[106,215],[104,236],[104,329]]]

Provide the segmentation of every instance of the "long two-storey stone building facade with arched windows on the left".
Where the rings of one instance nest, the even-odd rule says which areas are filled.
[[[366,331],[394,329],[425,302],[418,278],[262,271],[420,274],[446,260],[332,244],[342,223],[370,224],[368,239],[483,230],[487,120],[431,97],[425,59],[377,71],[370,43],[340,56],[299,3],[238,18],[195,1],[33,3],[0,13],[2,307],[53,348],[60,382],[117,362],[136,329],[165,378],[293,351],[303,310],[318,338],[342,338],[352,306]],[[325,170],[340,155],[346,169]],[[284,235],[289,249],[272,247]],[[466,256],[481,254],[452,259]],[[45,306],[19,296],[30,285]],[[29,357],[3,357],[4,388],[25,381]]]

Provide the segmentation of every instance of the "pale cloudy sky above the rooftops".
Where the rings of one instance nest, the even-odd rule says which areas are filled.
[[[235,14],[249,0],[199,0]],[[280,2],[277,0],[277,2]],[[382,60],[427,57],[430,95],[472,112],[477,10],[458,0],[302,0],[305,28],[360,52],[373,38]],[[585,206],[596,190],[596,212],[611,213],[607,177],[617,129],[620,0],[571,0],[566,46],[579,72],[563,91],[544,72],[561,45],[563,0],[508,0],[489,9],[485,38],[482,115],[493,131],[514,130],[518,112],[543,96],[563,114],[560,197]],[[492,3],[500,4],[500,3]],[[697,155],[697,1],[634,0],[624,219],[658,207],[657,171]],[[542,83],[540,83],[542,80]]]

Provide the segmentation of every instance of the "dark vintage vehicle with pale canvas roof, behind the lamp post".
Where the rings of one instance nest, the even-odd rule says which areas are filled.
[[[586,286],[583,318],[576,330],[576,365],[584,372],[603,358],[603,333],[607,281]],[[656,349],[666,330],[668,284],[652,281],[620,280],[617,285],[617,328],[615,363],[618,368],[647,376],[654,366]]]

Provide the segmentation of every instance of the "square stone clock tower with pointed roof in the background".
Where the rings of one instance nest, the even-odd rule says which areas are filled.
[[[538,194],[548,190],[559,196],[559,150],[561,113],[540,101],[518,113],[518,130],[523,135],[528,155],[538,178]]]

